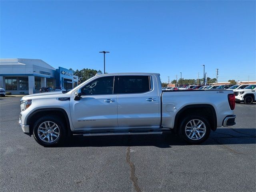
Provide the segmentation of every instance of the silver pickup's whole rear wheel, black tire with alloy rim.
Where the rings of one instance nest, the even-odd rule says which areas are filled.
[[[192,125],[193,120],[195,122],[195,125],[197,123],[199,123],[195,127],[193,127],[193,125]],[[192,123],[190,123],[190,122],[192,122]],[[203,124],[201,126],[199,126],[201,123],[203,123]],[[186,130],[186,126],[187,126],[187,130]],[[191,126],[191,131],[190,131],[190,128],[188,128],[190,126]],[[200,132],[200,133],[198,133],[198,132]],[[208,122],[208,120],[206,118],[204,118],[203,116],[196,116],[196,115],[191,115],[191,116],[184,118],[184,120],[182,120],[182,122],[180,124],[180,129],[179,129],[180,136],[189,144],[201,144],[209,137],[210,132],[211,132],[211,128],[210,128],[210,123]],[[189,137],[190,134],[192,134],[190,136],[191,138]],[[202,136],[202,138],[200,138],[199,135]]]

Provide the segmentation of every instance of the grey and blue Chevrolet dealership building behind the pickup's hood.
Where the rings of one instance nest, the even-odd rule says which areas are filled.
[[[0,87],[12,94],[38,93],[42,87],[68,90],[77,84],[72,70],[55,69],[40,59],[0,59]]]

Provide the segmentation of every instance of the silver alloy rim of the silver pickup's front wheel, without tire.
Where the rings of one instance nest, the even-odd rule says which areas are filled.
[[[59,138],[60,128],[52,121],[45,121],[38,126],[37,133],[40,140],[46,143],[52,143]]]

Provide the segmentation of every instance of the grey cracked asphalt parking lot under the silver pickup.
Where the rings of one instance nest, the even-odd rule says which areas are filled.
[[[73,137],[45,148],[23,134],[20,97],[0,97],[0,188],[5,191],[256,191],[256,104],[201,145],[178,136]]]

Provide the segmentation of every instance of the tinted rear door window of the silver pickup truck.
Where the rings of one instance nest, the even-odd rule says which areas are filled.
[[[119,76],[118,93],[144,93],[150,91],[149,76]]]

